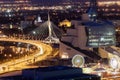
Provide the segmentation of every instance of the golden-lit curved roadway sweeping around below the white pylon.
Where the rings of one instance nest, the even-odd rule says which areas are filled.
[[[9,62],[0,64],[0,73],[6,73],[9,71],[15,71],[15,70],[22,70],[24,68],[31,68],[31,66],[27,66],[28,60],[31,60],[31,62],[40,61],[45,59],[52,52],[52,47],[42,43],[41,41],[21,40],[21,39],[15,39],[15,38],[1,38],[0,41],[11,41],[11,42],[21,42],[21,43],[32,44],[37,46],[37,48],[39,49],[39,51],[34,55],[21,57],[19,59],[11,60]],[[2,69],[3,67],[5,67],[6,70],[3,70]]]

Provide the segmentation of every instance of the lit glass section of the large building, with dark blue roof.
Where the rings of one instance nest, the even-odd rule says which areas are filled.
[[[87,46],[113,46],[116,45],[115,27],[110,22],[86,22]]]

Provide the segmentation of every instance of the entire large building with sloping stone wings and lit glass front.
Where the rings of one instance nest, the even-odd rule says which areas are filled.
[[[83,17],[88,17],[83,15]],[[116,45],[115,26],[110,21],[91,21],[88,18],[72,20],[74,29],[67,29],[66,35],[62,36],[60,43],[61,58],[72,58],[75,54],[85,55],[100,59],[95,48]],[[73,46],[73,48],[66,45]],[[77,47],[77,49],[76,49]],[[92,52],[91,52],[92,51]],[[96,56],[95,56],[96,55]],[[63,57],[64,56],[64,57]]]

